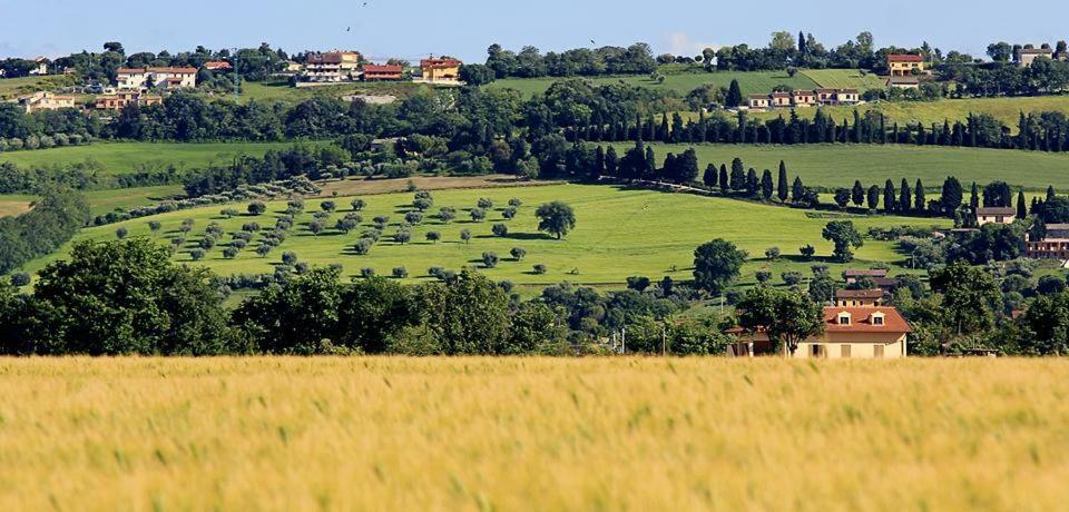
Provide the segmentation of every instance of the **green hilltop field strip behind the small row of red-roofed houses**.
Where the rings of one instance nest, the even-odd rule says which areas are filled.
[[[769,92],[776,86],[787,86],[794,89],[815,89],[816,82],[797,73],[793,78],[787,76],[786,71],[716,71],[716,72],[685,72],[678,75],[665,75],[665,82],[658,83],[651,80],[649,76],[624,76],[624,77],[598,77],[588,79],[596,85],[624,82],[631,86],[648,87],[650,89],[674,90],[681,96],[690,92],[703,85],[710,83],[716,87],[727,87],[733,79],[738,80],[738,86],[744,95]],[[490,88],[511,88],[519,90],[523,95],[540,95],[549,89],[555,81],[561,78],[509,78],[497,80],[487,87]]]

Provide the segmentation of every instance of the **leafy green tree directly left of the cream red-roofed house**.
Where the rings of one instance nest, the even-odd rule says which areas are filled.
[[[792,355],[811,336],[824,332],[820,304],[800,292],[767,286],[751,288],[738,303],[738,323],[749,333],[765,329],[768,338]]]

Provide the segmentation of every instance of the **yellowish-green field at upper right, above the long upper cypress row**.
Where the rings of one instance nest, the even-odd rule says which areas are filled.
[[[806,71],[808,72],[808,71]],[[1034,98],[973,98],[973,99],[944,99],[940,101],[880,101],[875,104],[860,105],[857,107],[824,107],[824,111],[834,119],[851,119],[853,122],[854,109],[864,114],[869,110],[876,110],[892,122],[905,126],[910,122],[923,122],[931,126],[938,122],[942,126],[943,120],[962,120],[969,117],[969,112],[989,114],[996,119],[1006,124],[1013,132],[1017,132],[1017,124],[1020,114],[1058,111],[1069,114],[1069,96],[1040,96]],[[802,118],[812,118],[816,109],[801,108],[797,110]],[[775,118],[783,115],[790,115],[790,110],[771,112],[752,112],[751,116],[758,119]]]

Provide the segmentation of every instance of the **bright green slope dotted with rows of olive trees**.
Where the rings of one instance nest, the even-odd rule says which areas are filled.
[[[483,252],[494,252],[501,263],[497,268],[483,268],[481,272],[493,279],[509,279],[520,285],[549,285],[562,280],[620,285],[631,275],[646,275],[657,279],[667,275],[674,279],[689,279],[694,249],[717,237],[736,243],[754,258],[745,268],[744,284],[753,283],[753,273],[766,266],[771,266],[775,272],[778,282],[778,273],[783,270],[795,269],[808,274],[811,263],[783,258],[769,264],[764,260],[766,248],[778,246],[784,255],[796,255],[798,247],[805,244],[815,246],[818,255],[828,255],[832,249],[832,245],[821,238],[821,230],[828,221],[826,218],[811,218],[806,211],[798,209],[730,199],[583,185],[441,190],[433,196],[432,211],[438,211],[442,206],[452,206],[458,209],[458,220],[442,225],[429,218],[413,229],[412,243],[406,245],[393,243],[389,237],[396,232],[404,214],[411,208],[411,194],[366,196],[367,207],[360,213],[363,224],[347,235],[333,229],[318,236],[312,235],[306,225],[312,220],[312,211],[320,209],[321,200],[308,200],[306,213],[297,218],[298,226],[291,232],[285,243],[266,258],[254,253],[254,242],[236,259],[225,259],[222,245],[228,243],[231,233],[239,230],[243,224],[251,220],[258,221],[264,228],[273,226],[274,216],[285,209],[284,203],[269,204],[269,215],[258,218],[241,216],[225,219],[219,216],[219,210],[224,207],[215,206],[87,228],[77,239],[114,239],[116,229],[126,227],[130,236],[154,236],[160,244],[169,244],[168,238],[180,235],[178,228],[183,219],[192,218],[195,225],[185,237],[186,247],[175,259],[190,262],[188,250],[199,243],[207,225],[217,221],[227,236],[198,264],[220,274],[273,272],[283,252],[295,252],[301,260],[311,264],[340,263],[345,274],[351,276],[365,267],[374,268],[380,275],[390,275],[394,267],[404,266],[409,269],[411,279],[429,279],[426,270],[432,266],[449,269],[469,265],[481,267]],[[465,210],[473,208],[480,197],[492,199],[497,210],[489,213],[486,221],[473,223]],[[501,217],[500,208],[513,197],[521,199],[523,206],[514,219],[506,221]],[[558,199],[572,205],[578,219],[576,230],[563,240],[556,240],[539,233],[534,217],[538,205]],[[341,218],[351,208],[349,198],[340,197],[335,200],[339,211],[328,223],[332,227],[334,219]],[[245,205],[235,207],[245,209]],[[380,215],[390,217],[390,227],[383,239],[369,255],[353,254],[352,246],[359,240],[360,234],[370,228],[372,219]],[[149,220],[159,220],[163,224],[159,234],[149,233]],[[871,226],[949,226],[949,221],[943,219],[882,216],[860,217],[854,221],[862,233],[867,232]],[[506,223],[509,226],[508,237],[496,237],[491,234],[491,227],[496,223]],[[470,244],[460,240],[461,229],[471,230]],[[442,242],[425,242],[425,234],[430,230],[440,232]],[[523,262],[514,262],[509,256],[513,247],[527,250]],[[66,250],[65,248],[36,260],[28,265],[27,269],[37,272],[48,260],[62,257]],[[856,255],[860,262],[854,265],[866,265],[871,262],[896,263],[904,259],[903,255],[894,250],[892,244],[872,240],[866,242]],[[547,265],[548,273],[533,274],[534,264]],[[842,267],[833,268],[838,270]]]

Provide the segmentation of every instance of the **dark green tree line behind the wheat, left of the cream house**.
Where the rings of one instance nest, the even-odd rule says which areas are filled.
[[[675,354],[708,354],[726,343],[715,319],[665,322],[697,293],[670,279],[608,294],[563,284],[524,302],[471,269],[405,286],[344,284],[339,267],[305,265],[233,312],[224,288],[148,239],[79,243],[40,272],[31,295],[0,283],[0,353],[596,354],[625,326],[629,352],[667,341]]]

